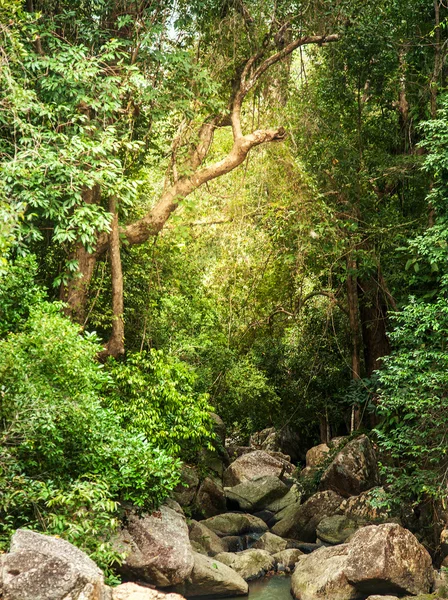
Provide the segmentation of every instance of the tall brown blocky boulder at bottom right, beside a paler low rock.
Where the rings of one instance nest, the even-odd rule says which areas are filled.
[[[345,574],[360,592],[417,595],[431,590],[431,557],[400,525],[363,527],[354,534],[348,548]]]

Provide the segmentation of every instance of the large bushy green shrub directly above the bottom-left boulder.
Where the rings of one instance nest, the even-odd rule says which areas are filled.
[[[157,506],[179,462],[104,408],[110,375],[101,346],[58,304],[31,308],[23,331],[0,341],[0,543],[17,527],[59,534],[108,569],[118,503]]]

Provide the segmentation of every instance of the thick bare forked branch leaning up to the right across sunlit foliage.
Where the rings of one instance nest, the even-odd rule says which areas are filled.
[[[142,219],[120,228],[120,235],[127,240],[128,244],[141,244],[151,236],[157,235],[181,200],[204,183],[221,177],[238,167],[252,148],[261,144],[283,140],[286,137],[286,131],[283,127],[260,129],[246,135],[243,134],[241,109],[245,97],[271,66],[282,61],[300,46],[322,45],[335,42],[338,39],[337,34],[304,36],[290,42],[283,49],[268,57],[265,57],[266,48],[252,56],[242,71],[239,86],[231,101],[230,114],[218,115],[201,126],[198,132],[198,142],[191,151],[185,165],[189,174],[175,179],[172,185],[167,186],[157,204]],[[233,132],[231,151],[222,160],[208,166],[202,166],[213,142],[216,128],[227,124],[231,124]],[[108,235],[102,234],[98,240],[95,256],[100,256],[107,248]]]

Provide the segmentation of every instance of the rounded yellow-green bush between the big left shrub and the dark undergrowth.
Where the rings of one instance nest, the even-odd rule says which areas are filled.
[[[194,459],[212,439],[208,394],[194,391],[195,376],[187,364],[151,350],[111,360],[113,383],[107,403],[123,427],[144,433],[153,444],[184,460]]]

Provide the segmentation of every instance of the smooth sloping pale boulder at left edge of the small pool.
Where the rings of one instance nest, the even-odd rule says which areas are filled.
[[[215,558],[194,553],[194,568],[187,580],[176,587],[184,596],[245,596],[247,583],[236,571]]]

